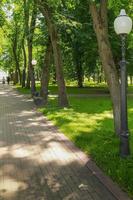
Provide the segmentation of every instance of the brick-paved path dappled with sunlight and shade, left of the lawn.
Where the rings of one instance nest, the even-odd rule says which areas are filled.
[[[0,85],[0,200],[117,199],[31,99]]]

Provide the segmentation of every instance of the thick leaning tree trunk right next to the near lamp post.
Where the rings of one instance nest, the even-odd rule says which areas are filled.
[[[108,38],[107,0],[101,1],[99,10],[95,3],[91,2],[90,12],[93,19],[94,30],[97,36],[100,58],[113,103],[115,132],[120,134],[120,83]]]

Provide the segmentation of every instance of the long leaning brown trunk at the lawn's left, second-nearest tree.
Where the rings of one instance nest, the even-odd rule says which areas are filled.
[[[37,0],[37,2],[39,4],[40,11],[42,12],[42,14],[44,15],[46,19],[47,27],[48,27],[52,47],[53,47],[54,62],[56,66],[56,78],[57,78],[57,84],[58,84],[59,106],[65,107],[65,106],[68,106],[68,99],[67,99],[67,94],[66,94],[66,87],[65,87],[64,74],[63,74],[63,63],[62,63],[57,29],[54,24],[52,12],[50,8],[48,7],[47,1],[44,4],[42,3],[41,0]]]

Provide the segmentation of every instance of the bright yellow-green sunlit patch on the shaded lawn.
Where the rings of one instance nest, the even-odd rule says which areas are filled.
[[[68,129],[72,133],[79,133],[80,131],[91,133],[96,127],[100,126],[102,121],[113,119],[113,114],[112,111],[89,114],[75,112],[73,109],[63,109],[59,112],[54,112],[54,115],[53,113],[49,114],[48,117],[54,120],[56,125],[60,124],[61,130]]]

